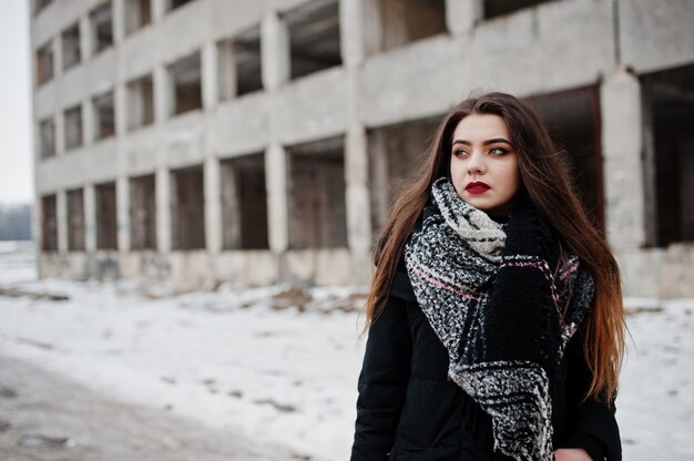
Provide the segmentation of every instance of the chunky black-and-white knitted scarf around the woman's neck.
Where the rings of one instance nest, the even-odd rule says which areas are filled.
[[[552,270],[557,238],[530,201],[499,224],[440,178],[405,260],[449,378],[491,417],[494,451],[553,460],[558,368],[593,296],[579,259]]]

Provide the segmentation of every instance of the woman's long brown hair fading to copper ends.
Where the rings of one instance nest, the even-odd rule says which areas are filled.
[[[519,158],[523,193],[593,277],[595,295],[583,344],[592,372],[585,398],[609,401],[616,395],[624,356],[620,269],[573,191],[561,152],[554,147],[544,124],[530,105],[510,94],[494,92],[469,98],[439,124],[426,152],[426,163],[395,202],[375,248],[376,272],[366,305],[366,329],[374,325],[386,305],[402,248],[429,199],[431,184],[439,177],[450,177],[452,134],[458,123],[470,114],[493,114],[503,119]]]

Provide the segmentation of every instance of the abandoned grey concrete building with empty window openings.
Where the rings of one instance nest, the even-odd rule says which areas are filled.
[[[694,296],[691,0],[33,0],[41,276],[364,284],[474,90],[533,104],[630,296]]]

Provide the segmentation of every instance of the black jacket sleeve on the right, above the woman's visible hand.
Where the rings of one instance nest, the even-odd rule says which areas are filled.
[[[579,330],[568,346],[567,404],[569,431],[559,448],[582,448],[593,461],[620,461],[622,442],[614,413],[610,404],[594,398],[583,400],[592,380],[583,354],[583,330]]]

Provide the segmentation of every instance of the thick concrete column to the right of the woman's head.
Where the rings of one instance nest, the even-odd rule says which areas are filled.
[[[641,86],[623,69],[600,88],[608,242],[613,249],[645,243]]]

